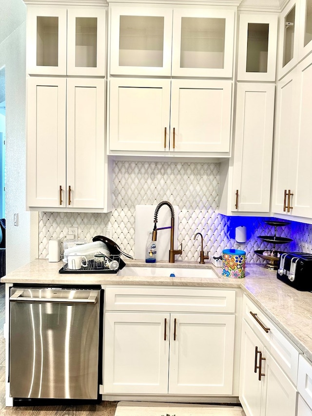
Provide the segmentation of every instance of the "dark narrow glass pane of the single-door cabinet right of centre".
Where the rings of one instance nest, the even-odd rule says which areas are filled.
[[[268,72],[269,23],[248,23],[246,72]]]

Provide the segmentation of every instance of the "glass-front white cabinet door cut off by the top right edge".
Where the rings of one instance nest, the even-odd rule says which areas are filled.
[[[312,0],[302,0],[299,23],[299,60],[312,51]]]

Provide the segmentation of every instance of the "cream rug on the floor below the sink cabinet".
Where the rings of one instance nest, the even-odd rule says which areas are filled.
[[[241,406],[119,401],[115,416],[245,416]]]

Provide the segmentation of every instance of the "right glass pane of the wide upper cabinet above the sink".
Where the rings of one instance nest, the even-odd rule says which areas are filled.
[[[181,68],[224,68],[225,19],[181,21]]]

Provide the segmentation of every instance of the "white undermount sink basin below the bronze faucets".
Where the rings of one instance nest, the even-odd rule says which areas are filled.
[[[179,267],[131,267],[127,266],[118,271],[118,276],[146,276],[146,277],[197,277],[216,278],[212,269],[179,268]]]

